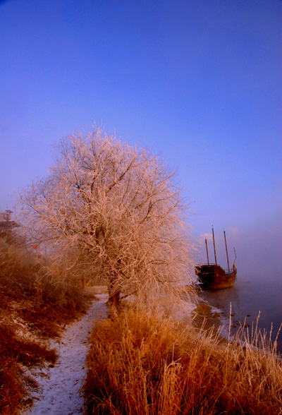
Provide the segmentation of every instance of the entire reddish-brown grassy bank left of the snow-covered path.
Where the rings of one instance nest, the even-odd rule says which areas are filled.
[[[18,239],[0,238],[0,414],[13,415],[36,387],[25,367],[54,363],[44,339],[87,309],[89,296],[71,279],[62,281]]]

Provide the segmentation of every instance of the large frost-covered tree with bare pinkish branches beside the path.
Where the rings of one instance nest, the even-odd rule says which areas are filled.
[[[20,196],[33,243],[53,244],[93,282],[102,279],[116,307],[129,294],[190,282],[185,206],[159,157],[99,128],[56,150],[47,179]]]

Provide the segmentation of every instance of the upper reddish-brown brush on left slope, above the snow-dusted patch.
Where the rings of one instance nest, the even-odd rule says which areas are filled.
[[[0,265],[2,310],[13,309],[41,335],[58,335],[60,325],[86,310],[87,298],[80,284],[61,279],[62,270],[25,246],[0,239]]]

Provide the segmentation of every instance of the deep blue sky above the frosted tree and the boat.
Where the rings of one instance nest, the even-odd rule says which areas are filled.
[[[214,224],[280,270],[281,18],[281,0],[0,1],[0,210],[96,121],[177,169],[195,236]]]

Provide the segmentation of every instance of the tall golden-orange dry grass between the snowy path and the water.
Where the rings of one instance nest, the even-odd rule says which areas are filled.
[[[97,323],[87,361],[88,414],[281,413],[275,349],[222,342],[146,311]]]

